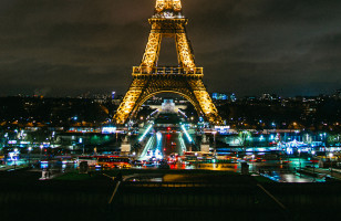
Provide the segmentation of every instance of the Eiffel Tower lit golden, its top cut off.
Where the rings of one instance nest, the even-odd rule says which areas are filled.
[[[152,25],[148,43],[141,65],[133,67],[133,83],[114,115],[115,123],[122,125],[136,117],[143,103],[156,94],[175,93],[189,101],[211,125],[223,124],[203,83],[203,67],[197,67],[194,61],[182,1],[156,0],[155,14],[148,21]],[[163,38],[175,39],[178,66],[157,66]]]

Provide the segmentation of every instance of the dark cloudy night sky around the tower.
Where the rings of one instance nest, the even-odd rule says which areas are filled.
[[[1,0],[0,96],[125,93],[154,4]],[[208,92],[294,96],[341,88],[340,0],[183,0],[183,8]],[[177,65],[172,41],[159,62]]]

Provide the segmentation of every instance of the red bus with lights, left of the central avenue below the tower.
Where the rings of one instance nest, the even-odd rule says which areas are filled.
[[[127,157],[97,156],[97,167],[102,168],[131,168],[131,160]]]

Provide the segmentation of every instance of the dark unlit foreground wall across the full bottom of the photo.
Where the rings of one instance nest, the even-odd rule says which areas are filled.
[[[240,178],[240,177],[239,177]],[[110,179],[0,183],[1,220],[326,220],[339,213],[339,183],[124,182]]]

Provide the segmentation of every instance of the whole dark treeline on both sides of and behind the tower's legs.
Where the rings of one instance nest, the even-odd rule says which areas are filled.
[[[341,130],[341,99],[238,99],[216,103],[227,125],[236,129]],[[99,126],[112,119],[117,105],[112,99],[0,97],[0,125]],[[137,119],[153,109],[144,107]],[[192,105],[188,118],[198,119]]]

